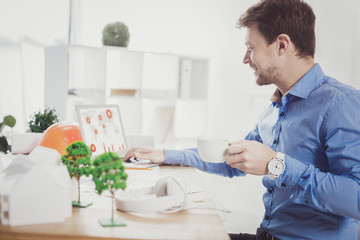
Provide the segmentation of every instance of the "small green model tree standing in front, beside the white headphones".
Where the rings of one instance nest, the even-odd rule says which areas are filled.
[[[121,218],[114,219],[114,195],[117,189],[126,188],[127,174],[122,159],[113,152],[96,157],[93,162],[93,180],[98,194],[108,190],[112,197],[111,219],[100,219],[103,227],[126,226]]]

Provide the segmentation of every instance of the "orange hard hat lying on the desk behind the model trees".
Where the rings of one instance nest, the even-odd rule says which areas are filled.
[[[81,140],[81,131],[77,123],[58,122],[51,125],[39,141],[39,145],[57,150],[60,155],[66,154],[69,144]]]

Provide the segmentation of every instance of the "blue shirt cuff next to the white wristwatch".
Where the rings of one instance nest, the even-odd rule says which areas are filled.
[[[275,180],[275,184],[279,188],[293,192],[307,168],[308,165],[285,155],[285,171]]]

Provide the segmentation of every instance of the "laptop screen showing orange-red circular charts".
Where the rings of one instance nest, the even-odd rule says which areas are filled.
[[[125,156],[128,149],[117,105],[77,105],[76,112],[83,141],[94,157],[104,152]]]

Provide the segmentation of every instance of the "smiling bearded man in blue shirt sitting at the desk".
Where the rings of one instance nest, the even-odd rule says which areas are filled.
[[[272,104],[225,163],[196,149],[131,149],[130,157],[180,164],[224,176],[264,175],[265,214],[257,236],[233,239],[357,239],[360,92],[314,62],[315,15],[301,0],[263,0],[239,19],[244,63],[258,85],[274,84]]]

